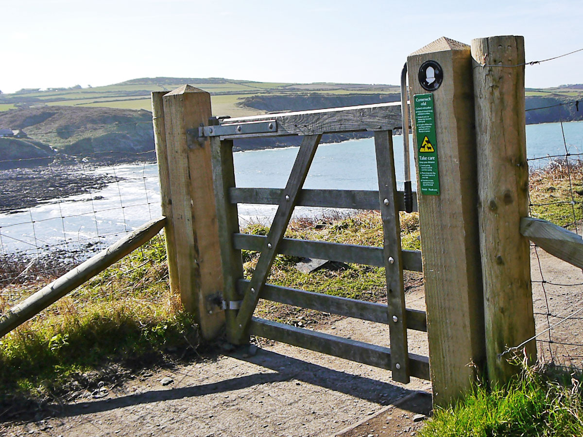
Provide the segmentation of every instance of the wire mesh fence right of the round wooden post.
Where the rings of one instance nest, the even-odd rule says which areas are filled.
[[[572,102],[571,104],[577,104]],[[540,108],[545,109],[545,108]],[[534,108],[533,110],[536,110]],[[580,124],[580,122],[579,122]],[[554,150],[529,158],[529,215],[579,235],[583,229],[581,134],[570,136],[559,122]],[[567,132],[567,133],[566,133]],[[583,271],[531,244],[531,274],[539,357],[559,366],[583,368]]]

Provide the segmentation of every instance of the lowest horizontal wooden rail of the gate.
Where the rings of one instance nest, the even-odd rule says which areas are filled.
[[[256,317],[251,319],[250,334],[391,370],[391,349],[388,347],[344,339]],[[409,354],[409,371],[411,376],[429,379],[429,358]]]

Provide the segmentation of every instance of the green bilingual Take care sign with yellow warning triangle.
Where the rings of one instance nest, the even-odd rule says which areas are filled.
[[[417,132],[417,165],[422,194],[439,195],[437,168],[436,118],[433,94],[415,94],[415,131]]]

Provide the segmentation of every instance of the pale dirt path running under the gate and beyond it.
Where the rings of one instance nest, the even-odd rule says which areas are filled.
[[[548,326],[547,313],[553,324],[560,320],[557,315],[583,306],[583,286],[552,285],[583,283],[581,270],[540,249],[538,258],[533,252],[532,280],[538,332]],[[424,309],[423,288],[410,291],[406,301],[409,308]],[[387,326],[362,320],[335,319],[319,330],[380,345],[388,340]],[[567,320],[552,330],[553,343],[546,333],[539,338],[540,356],[548,359],[552,351],[555,360],[581,365],[581,332],[583,317]],[[410,332],[409,347],[427,355],[425,334]],[[172,382],[163,385],[163,378]],[[260,343],[252,357],[229,353],[171,371],[145,372],[121,386],[104,385],[100,399],[63,404],[52,417],[36,422],[0,424],[0,435],[332,436],[416,390],[430,389],[420,379],[404,386],[382,369],[281,343]],[[392,415],[391,429],[402,430],[392,435],[415,435],[413,414]],[[387,435],[382,421],[377,422],[372,431],[363,428],[364,435]],[[359,435],[354,433],[349,435]]]

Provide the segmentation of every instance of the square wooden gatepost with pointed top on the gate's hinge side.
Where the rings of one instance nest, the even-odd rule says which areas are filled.
[[[185,85],[165,94],[163,105],[178,288],[203,338],[212,339],[224,311],[210,142],[188,132],[208,124],[210,94]]]

